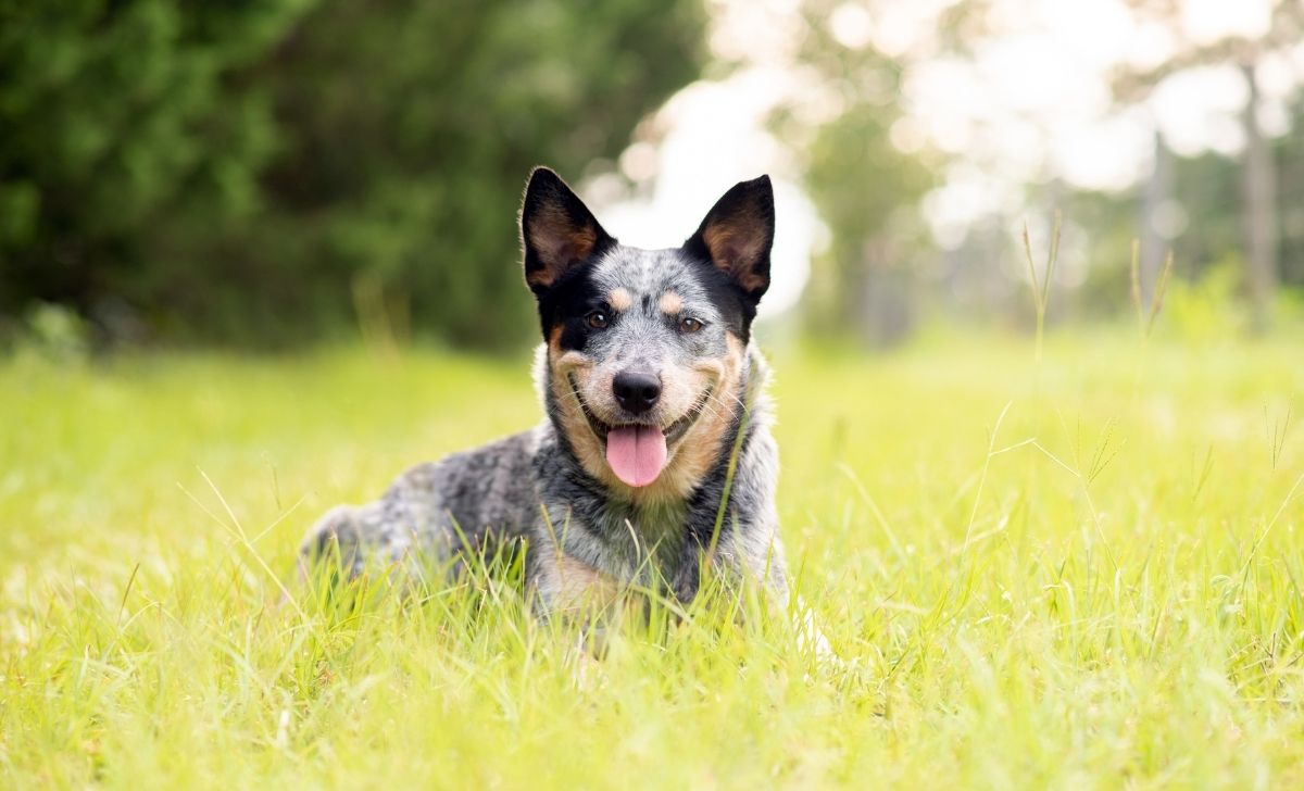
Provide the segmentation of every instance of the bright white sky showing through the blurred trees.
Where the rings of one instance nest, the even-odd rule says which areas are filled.
[[[1271,1],[1185,0],[1181,36],[1208,43],[1262,35]],[[908,115],[892,141],[908,152],[927,146],[953,155],[943,186],[922,205],[941,246],[958,245],[966,228],[991,212],[1020,215],[1029,182],[1060,177],[1106,190],[1134,184],[1150,171],[1155,126],[1184,155],[1235,154],[1243,145],[1236,115],[1248,89],[1231,66],[1174,76],[1144,106],[1112,106],[1111,68],[1151,68],[1181,46],[1163,26],[1136,23],[1123,0],[998,0],[987,20],[998,33],[971,63],[935,53],[934,20],[948,5],[849,0],[824,21],[842,46],[876,47],[914,64],[902,95]],[[818,76],[797,63],[801,0],[708,0],[708,7],[712,51],[742,68],[690,85],[649,119],[647,139],[619,162],[640,185],[634,198],[602,180],[584,193],[622,241],[659,248],[682,241],[735,181],[771,173],[778,227],[762,313],[775,314],[799,297],[825,232],[798,186],[797,158],[763,120],[794,96],[812,121],[836,107],[819,100]],[[1286,99],[1304,81],[1304,43],[1265,59],[1258,77],[1261,124],[1270,136],[1284,134]]]

